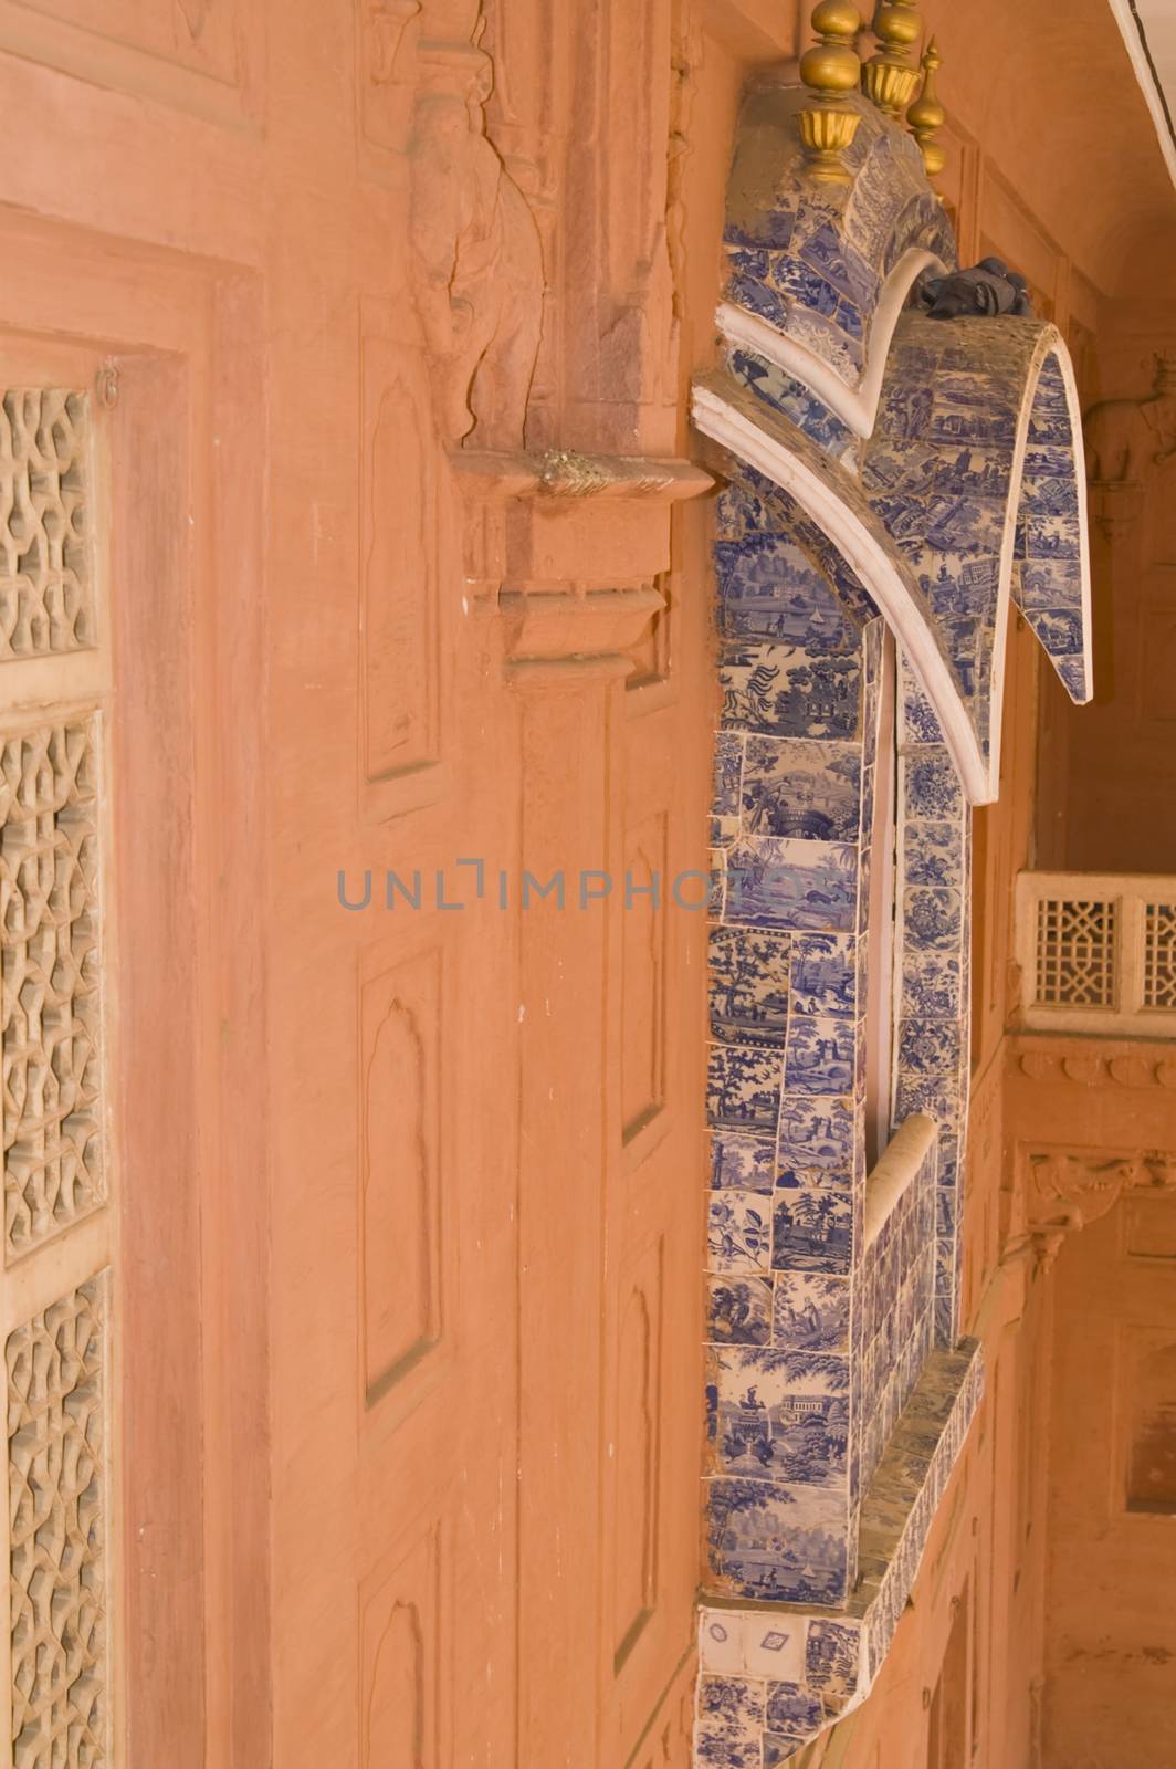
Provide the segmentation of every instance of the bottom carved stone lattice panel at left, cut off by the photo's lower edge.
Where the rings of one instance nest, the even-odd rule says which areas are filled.
[[[14,1769],[103,1769],[106,1274],[9,1334]]]

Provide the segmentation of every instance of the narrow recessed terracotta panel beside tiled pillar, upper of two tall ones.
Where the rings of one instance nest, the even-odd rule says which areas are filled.
[[[656,812],[630,831],[624,853],[621,1063],[626,1141],[665,1104],[667,860],[668,817]]]

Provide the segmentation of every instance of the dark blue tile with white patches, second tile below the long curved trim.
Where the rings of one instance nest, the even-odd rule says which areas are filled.
[[[725,727],[778,738],[852,738],[861,667],[851,651],[810,653],[769,640],[725,644],[718,660]]]

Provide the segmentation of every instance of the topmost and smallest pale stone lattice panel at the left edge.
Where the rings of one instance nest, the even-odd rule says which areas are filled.
[[[0,398],[0,662],[94,644],[87,432],[83,393]]]

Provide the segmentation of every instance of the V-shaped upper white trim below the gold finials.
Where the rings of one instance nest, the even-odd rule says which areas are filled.
[[[829,410],[859,437],[868,437],[874,433],[895,327],[907,304],[914,280],[923,271],[944,269],[943,258],[937,258],[934,251],[918,251],[916,248],[904,251],[877,297],[868,336],[867,371],[858,389],[847,387],[833,364],[822,361],[808,345],[798,343],[769,320],[760,318],[759,313],[748,313],[746,308],[736,306],[734,301],[722,301],[718,304],[714,322],[727,343],[736,345],[736,348],[755,350],[757,356],[762,356],[775,368],[783,370],[785,375],[792,375],[810,393],[815,393],[819,400],[824,400]]]

